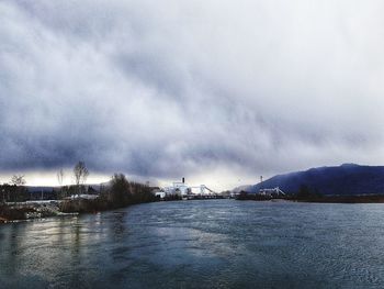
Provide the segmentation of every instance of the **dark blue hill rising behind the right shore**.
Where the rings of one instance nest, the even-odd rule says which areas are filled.
[[[310,168],[278,175],[245,190],[258,192],[261,188],[280,187],[284,192],[294,193],[302,185],[323,194],[384,194],[384,166],[343,164],[338,167]]]

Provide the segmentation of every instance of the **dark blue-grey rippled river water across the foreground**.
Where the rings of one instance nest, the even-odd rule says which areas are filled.
[[[161,202],[0,225],[1,288],[384,288],[384,204]]]

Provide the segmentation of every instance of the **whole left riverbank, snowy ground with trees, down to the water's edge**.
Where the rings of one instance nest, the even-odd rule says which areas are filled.
[[[61,173],[63,174],[63,173]],[[58,174],[59,176],[60,174]],[[144,184],[128,181],[123,174],[115,174],[111,181],[100,186],[95,192],[84,186],[89,175],[84,163],[74,168],[76,185],[60,186],[50,193],[49,201],[32,200],[24,186],[23,176],[14,176],[11,185],[0,186],[0,223],[76,213],[100,212],[131,204],[154,202],[158,198],[151,188]]]

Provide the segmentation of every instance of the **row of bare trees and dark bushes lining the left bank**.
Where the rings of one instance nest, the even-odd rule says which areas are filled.
[[[0,202],[22,202],[31,199],[56,199],[67,200],[61,203],[64,211],[99,211],[126,207],[128,204],[156,201],[157,198],[151,192],[148,185],[128,181],[125,175],[114,174],[111,181],[100,185],[99,190],[91,186],[86,186],[89,176],[89,169],[84,162],[78,162],[72,169],[75,185],[65,186],[65,173],[63,169],[57,171],[57,181],[59,187],[50,192],[30,193],[25,187],[25,178],[22,175],[12,177],[10,184],[0,186]],[[94,200],[82,200],[83,193],[98,194]]]

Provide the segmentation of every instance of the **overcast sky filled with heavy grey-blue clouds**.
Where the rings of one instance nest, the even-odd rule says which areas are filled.
[[[380,0],[1,0],[0,182],[215,190],[384,165]]]

